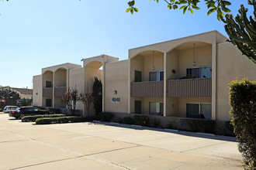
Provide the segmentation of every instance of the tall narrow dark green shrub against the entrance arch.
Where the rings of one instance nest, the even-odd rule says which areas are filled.
[[[92,87],[93,104],[96,111],[96,115],[102,112],[102,81],[98,77],[94,77],[94,83]]]

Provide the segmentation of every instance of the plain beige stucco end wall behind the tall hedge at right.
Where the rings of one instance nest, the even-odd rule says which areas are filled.
[[[216,86],[216,119],[230,120],[229,87],[230,81],[248,77],[256,80],[256,64],[243,56],[237,47],[230,42],[217,46],[217,86]]]

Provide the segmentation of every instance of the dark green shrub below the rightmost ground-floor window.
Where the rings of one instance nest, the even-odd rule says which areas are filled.
[[[181,119],[181,123],[188,125],[191,131],[214,133],[216,122],[213,120]]]

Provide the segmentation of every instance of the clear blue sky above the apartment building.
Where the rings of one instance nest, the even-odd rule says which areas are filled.
[[[0,85],[33,87],[41,69],[107,54],[127,59],[128,49],[217,30],[227,36],[216,13],[168,10],[165,2],[137,0],[139,12],[126,13],[128,0],[0,1]],[[240,3],[230,1],[237,14]],[[239,3],[238,3],[239,2]],[[249,15],[252,14],[250,8]]]

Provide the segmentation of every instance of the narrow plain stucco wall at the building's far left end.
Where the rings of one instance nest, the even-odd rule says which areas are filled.
[[[42,76],[33,76],[33,105],[42,106],[43,101]]]

